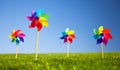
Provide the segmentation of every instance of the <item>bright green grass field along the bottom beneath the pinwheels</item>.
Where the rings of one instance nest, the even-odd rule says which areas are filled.
[[[0,70],[120,70],[120,52],[105,53],[39,54],[0,54]]]

